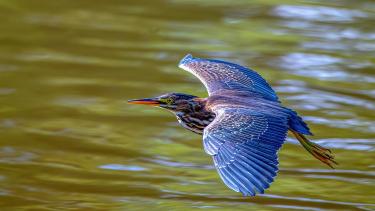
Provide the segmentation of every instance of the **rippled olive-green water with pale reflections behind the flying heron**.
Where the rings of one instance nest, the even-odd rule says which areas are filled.
[[[1,210],[374,210],[372,0],[0,0]],[[221,182],[201,137],[126,100],[206,96],[187,53],[249,66],[340,163],[289,138],[266,194]]]

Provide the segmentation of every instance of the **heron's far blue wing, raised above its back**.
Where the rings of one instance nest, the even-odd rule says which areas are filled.
[[[248,91],[261,97],[278,101],[275,91],[257,72],[220,60],[185,56],[178,65],[191,72],[205,85],[209,95],[218,90]]]

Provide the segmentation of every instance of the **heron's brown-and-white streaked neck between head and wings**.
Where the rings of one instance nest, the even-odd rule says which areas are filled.
[[[206,99],[196,98],[190,102],[190,108],[176,112],[178,122],[186,129],[202,134],[215,118],[215,114],[206,109]]]

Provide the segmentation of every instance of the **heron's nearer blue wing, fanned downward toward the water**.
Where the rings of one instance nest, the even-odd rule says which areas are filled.
[[[273,182],[277,151],[288,130],[287,118],[247,108],[220,108],[203,133],[221,179],[231,189],[254,196]]]

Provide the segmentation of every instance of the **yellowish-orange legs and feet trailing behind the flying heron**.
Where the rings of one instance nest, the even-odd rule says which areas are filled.
[[[294,130],[290,130],[302,146],[316,159],[327,164],[329,167],[334,168],[333,164],[338,165],[334,160],[334,156],[331,150],[324,148],[314,142],[309,141],[303,134],[298,133]]]

